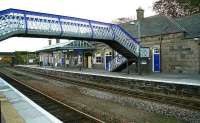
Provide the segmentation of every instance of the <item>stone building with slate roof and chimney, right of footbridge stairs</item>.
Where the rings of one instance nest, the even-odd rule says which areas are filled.
[[[144,18],[144,10],[139,8],[137,20],[121,26],[134,37],[138,37],[139,32],[141,44],[150,47],[151,51],[158,49],[161,72],[200,73],[200,14],[182,18],[164,15]],[[151,71],[152,57],[150,59]]]

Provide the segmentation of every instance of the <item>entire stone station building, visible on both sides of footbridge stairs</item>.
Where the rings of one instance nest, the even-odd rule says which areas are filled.
[[[171,18],[165,15],[144,17],[141,8],[136,12],[137,20],[118,24],[133,37],[138,37],[143,47],[150,48],[150,57],[142,64],[142,72],[200,73],[200,14]],[[89,47],[68,47],[75,42],[84,42]],[[110,61],[117,54],[106,44],[96,41],[69,41],[47,46],[41,51],[43,65],[66,66],[67,63],[73,67],[83,62],[85,68],[104,70],[109,70]],[[129,70],[135,72],[136,64],[133,63]]]

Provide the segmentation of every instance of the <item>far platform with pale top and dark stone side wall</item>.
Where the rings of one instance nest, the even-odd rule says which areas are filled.
[[[32,65],[18,65],[17,69],[54,77],[101,84],[131,91],[164,94],[168,96],[199,99],[200,75],[150,74],[134,75],[94,69],[61,69]]]

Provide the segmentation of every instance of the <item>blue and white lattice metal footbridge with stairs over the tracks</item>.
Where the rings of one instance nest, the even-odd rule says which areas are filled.
[[[140,45],[116,24],[93,20],[32,12],[18,9],[0,11],[0,41],[10,37],[59,38],[99,41],[116,50],[111,71],[123,69],[126,63],[137,61]]]

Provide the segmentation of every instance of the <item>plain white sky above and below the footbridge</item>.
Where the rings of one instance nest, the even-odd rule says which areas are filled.
[[[155,15],[156,0],[0,0],[0,11],[16,8],[102,22],[121,17],[136,19],[136,9],[142,7],[144,16]],[[64,42],[65,40],[61,40]],[[13,37],[0,42],[0,52],[35,51],[48,45],[48,39]]]

